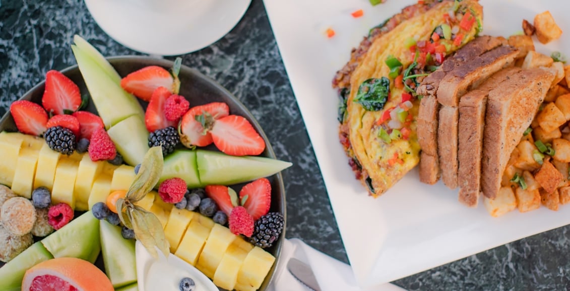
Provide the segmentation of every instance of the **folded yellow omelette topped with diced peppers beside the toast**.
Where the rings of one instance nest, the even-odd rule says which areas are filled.
[[[405,14],[389,29],[380,27],[346,87],[339,88],[340,141],[356,178],[375,197],[420,161],[417,85],[482,29],[483,8],[475,0],[415,6],[419,13]]]

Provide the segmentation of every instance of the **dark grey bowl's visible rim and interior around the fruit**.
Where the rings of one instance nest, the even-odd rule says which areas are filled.
[[[128,73],[149,65],[158,65],[163,68],[170,68],[173,66],[173,62],[170,60],[154,59],[144,56],[115,56],[107,58],[107,60],[113,65],[113,67],[115,67],[116,71],[121,76],[126,76]],[[82,96],[89,94],[85,81],[83,80],[83,77],[77,65],[63,69],[62,73],[78,85]],[[249,110],[247,110],[247,108],[236,97],[231,95],[229,91],[227,91],[225,88],[223,88],[221,85],[209,77],[202,75],[202,73],[196,71],[196,69],[192,69],[184,65],[182,65],[180,68],[178,77],[181,81],[180,95],[185,96],[186,99],[190,102],[191,106],[202,105],[215,101],[226,103],[229,105],[230,112],[232,114],[237,114],[239,116],[245,117],[248,121],[251,122],[255,130],[257,130],[257,132],[263,138],[266,144],[266,148],[263,153],[260,154],[260,156],[275,159],[275,153],[272,150],[272,147],[267,140],[267,136],[264,134],[263,129],[259,126],[258,122],[255,120]],[[39,83],[34,88],[30,89],[30,91],[26,92],[25,95],[22,96],[21,100],[30,100],[34,103],[41,103],[44,88],[44,82]],[[146,107],[146,103],[144,101],[141,101],[140,99],[137,100],[140,101],[141,105],[143,105],[144,108]],[[85,110],[92,113],[97,113],[97,110],[95,109],[95,106],[91,100]],[[121,110],[121,108],[117,108],[117,110]],[[2,131],[17,132],[17,128],[10,112],[6,113],[5,116],[3,116],[0,120],[0,132]],[[216,150],[213,145],[207,146],[205,148],[209,150]],[[280,173],[277,173],[267,178],[269,179],[272,188],[272,202],[270,211],[280,212],[283,214],[284,218],[286,218],[285,192],[282,175]],[[239,188],[242,186],[242,184],[235,186],[235,188]],[[279,255],[283,245],[284,232],[285,227],[283,229],[282,235],[279,236],[279,239],[274,243],[274,245],[266,249],[267,252],[275,256],[276,260],[259,290],[266,290],[267,286],[270,284],[273,278],[275,267],[278,264]],[[99,256],[99,259],[96,261],[96,265],[97,267],[104,269],[101,256]],[[0,263],[0,267],[2,266],[3,263]]]

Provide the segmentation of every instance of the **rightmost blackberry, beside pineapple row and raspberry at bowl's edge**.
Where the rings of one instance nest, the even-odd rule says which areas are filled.
[[[279,212],[269,212],[261,216],[254,226],[253,235],[250,237],[250,243],[260,248],[268,248],[278,239],[283,231],[284,219]]]

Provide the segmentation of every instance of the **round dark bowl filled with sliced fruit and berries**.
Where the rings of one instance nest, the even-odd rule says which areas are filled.
[[[266,289],[291,163],[180,59],[74,42],[0,120],[0,290]]]

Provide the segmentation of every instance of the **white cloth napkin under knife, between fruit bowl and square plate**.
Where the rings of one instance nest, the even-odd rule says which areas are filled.
[[[295,257],[311,267],[323,291],[405,291],[389,283],[378,285],[374,288],[361,289],[349,265],[317,251],[300,239],[284,241],[279,264],[275,270],[274,281],[268,288],[270,291],[311,290],[296,280],[289,270],[287,270],[287,263],[291,257]]]

